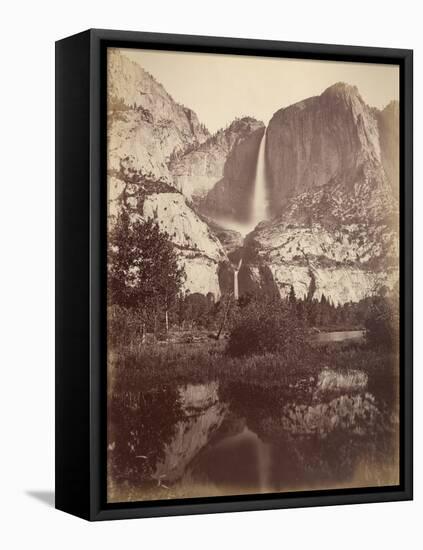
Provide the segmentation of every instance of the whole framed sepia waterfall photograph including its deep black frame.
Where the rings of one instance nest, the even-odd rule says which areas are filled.
[[[56,44],[56,507],[412,498],[412,51]]]

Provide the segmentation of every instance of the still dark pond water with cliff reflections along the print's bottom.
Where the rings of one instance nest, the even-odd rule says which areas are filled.
[[[113,396],[109,500],[398,483],[398,416],[367,375]]]

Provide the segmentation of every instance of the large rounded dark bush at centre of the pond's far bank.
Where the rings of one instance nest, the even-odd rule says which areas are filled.
[[[229,334],[227,353],[234,357],[278,353],[287,360],[301,358],[307,331],[296,309],[277,299],[251,301],[240,308]]]

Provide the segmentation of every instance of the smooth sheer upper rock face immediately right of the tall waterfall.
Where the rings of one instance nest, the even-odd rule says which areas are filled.
[[[361,180],[382,163],[378,121],[356,87],[338,83],[320,96],[277,111],[267,130],[273,209],[331,181]]]

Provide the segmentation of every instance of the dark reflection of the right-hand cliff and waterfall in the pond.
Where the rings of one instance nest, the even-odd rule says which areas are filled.
[[[232,493],[240,487],[289,491],[396,483],[398,418],[366,389],[360,371],[336,380],[334,372],[322,371],[305,384],[222,387],[231,413],[245,425],[211,442],[194,472],[207,471]]]

